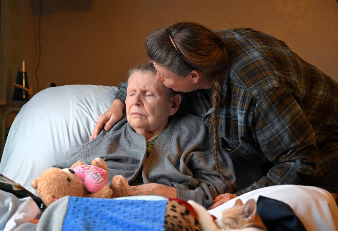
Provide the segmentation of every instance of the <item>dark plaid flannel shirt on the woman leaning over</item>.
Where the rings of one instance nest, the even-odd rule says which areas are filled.
[[[277,184],[311,185],[337,166],[338,83],[263,32],[216,32],[228,43],[229,55],[217,115],[220,146],[244,164],[273,163],[266,176],[236,194]],[[209,126],[207,92],[184,95]],[[121,83],[116,99],[124,102],[125,96]]]

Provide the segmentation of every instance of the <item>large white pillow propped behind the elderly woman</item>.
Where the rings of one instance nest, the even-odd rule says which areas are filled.
[[[67,85],[34,95],[11,125],[0,173],[36,193],[32,179],[62,161],[70,147],[89,141],[116,92],[116,87]]]

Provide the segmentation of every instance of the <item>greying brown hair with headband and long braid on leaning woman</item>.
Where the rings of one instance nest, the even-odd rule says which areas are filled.
[[[162,28],[151,33],[146,39],[145,47],[151,61],[158,63],[178,76],[185,77],[192,70],[196,70],[212,78],[214,86],[212,89],[212,113],[209,131],[213,135],[216,169],[222,180],[225,181],[217,159],[217,113],[220,107],[220,83],[227,76],[226,41],[218,33],[201,24],[180,22],[171,25],[169,28]]]

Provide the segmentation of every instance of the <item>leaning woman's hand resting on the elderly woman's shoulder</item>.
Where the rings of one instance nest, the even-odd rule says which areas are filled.
[[[112,106],[110,106],[110,108],[108,108],[108,110],[99,117],[89,141],[93,140],[100,134],[103,125],[104,130],[109,131],[116,122],[120,121],[123,109],[123,102],[115,99]]]

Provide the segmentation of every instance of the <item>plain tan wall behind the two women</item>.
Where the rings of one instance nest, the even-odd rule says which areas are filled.
[[[117,86],[132,65],[147,60],[145,38],[178,21],[196,21],[211,29],[251,27],[264,31],[286,42],[300,57],[338,81],[335,0],[42,2],[42,50],[37,72],[40,90],[51,82],[58,86]],[[28,0],[24,3],[23,59],[36,93],[34,4]]]

